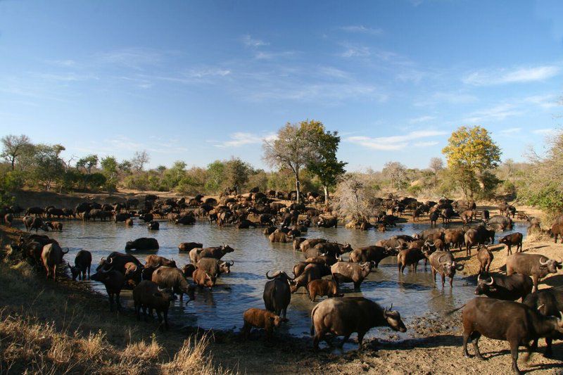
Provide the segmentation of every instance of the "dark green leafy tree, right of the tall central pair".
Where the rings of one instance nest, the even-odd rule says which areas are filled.
[[[315,174],[324,190],[324,203],[329,204],[329,187],[336,185],[337,180],[346,170],[344,166],[348,163],[339,161],[336,158],[336,151],[339,149],[340,136],[338,132],[325,131],[321,122],[309,122],[310,133],[315,134],[312,141],[315,142],[317,158],[309,160],[307,169]]]

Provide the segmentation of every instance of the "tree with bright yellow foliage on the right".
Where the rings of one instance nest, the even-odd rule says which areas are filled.
[[[448,146],[443,148],[442,153],[466,198],[473,199],[479,184],[483,190],[491,187],[483,183],[486,177],[483,172],[498,166],[500,148],[491,139],[487,129],[479,126],[459,127],[448,139]]]

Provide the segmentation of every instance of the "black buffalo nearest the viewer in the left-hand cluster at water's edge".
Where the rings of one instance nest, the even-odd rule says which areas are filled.
[[[137,320],[141,319],[141,307],[143,308],[145,321],[148,316],[153,316],[154,309],[156,310],[160,324],[163,323],[163,317],[160,313],[164,315],[164,327],[168,329],[168,309],[170,308],[170,302],[173,298],[174,295],[170,289],[160,289],[153,281],[141,281],[139,285],[133,289],[133,300],[135,312],[137,312]],[[146,310],[148,310],[148,315]],[[161,326],[161,328],[163,327]]]

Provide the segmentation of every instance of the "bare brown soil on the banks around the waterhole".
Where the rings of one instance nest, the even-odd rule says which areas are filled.
[[[162,193],[158,195],[163,196]],[[125,198],[128,194],[120,193],[108,195],[82,195],[59,196],[56,193],[32,193],[23,192],[18,194],[18,203],[23,206],[55,204],[58,206],[71,206],[74,202],[84,200],[85,196],[96,198],[100,203],[115,201],[115,197]],[[132,196],[132,195],[131,195]],[[175,195],[174,195],[175,196]],[[105,200],[105,201],[104,201]],[[526,212],[532,212],[526,208]],[[491,212],[493,215],[493,212]],[[407,217],[405,217],[407,219]],[[410,220],[410,217],[408,217]],[[0,226],[1,238],[8,243],[19,235],[16,229],[8,229]],[[491,246],[495,256],[491,272],[501,271],[506,261],[506,250],[504,246]],[[563,245],[548,241],[524,243],[524,251],[529,253],[541,253],[550,258],[563,256]],[[467,259],[464,250],[454,253],[459,262],[464,264],[461,277],[474,279],[479,270],[479,263],[475,256]],[[42,278],[37,279],[42,283],[43,290],[50,290],[67,301],[68,305],[80,305],[82,310],[89,311],[107,319],[118,319],[123,324],[132,324],[134,329],[142,336],[150,338],[155,333],[148,328],[147,324],[136,324],[133,312],[122,313],[115,317],[107,309],[105,296],[92,293],[89,288],[80,282],[65,280],[58,283],[44,283]],[[540,288],[563,286],[563,274],[555,274],[542,281]],[[448,287],[446,286],[446,289]],[[43,293],[43,292],[42,292]],[[27,297],[27,296],[26,296]],[[17,305],[20,298],[4,301],[6,305]],[[4,303],[2,303],[4,305]],[[23,306],[22,302],[22,306]],[[23,307],[22,307],[23,308]],[[43,312],[43,318],[53,319],[49,312]],[[416,332],[416,338],[406,341],[393,341],[392,336],[388,341],[377,339],[364,342],[361,352],[352,350],[340,352],[337,349],[326,348],[320,352],[312,352],[312,340],[310,338],[295,338],[292,336],[274,336],[271,343],[265,342],[262,331],[253,331],[248,341],[242,341],[238,332],[233,331],[211,331],[212,340],[210,352],[213,353],[217,365],[248,374],[272,373],[287,374],[503,374],[510,373],[511,358],[509,345],[505,341],[495,341],[481,338],[479,348],[486,361],[476,358],[467,359],[462,355],[462,336],[460,330],[460,311],[442,316],[419,317],[407,326],[410,331]],[[126,323],[127,322],[127,323]],[[173,322],[167,333],[158,333],[158,341],[173,357],[175,352],[182,346],[184,339],[197,332],[197,329],[179,329]],[[150,326],[150,325],[149,325]],[[93,330],[95,327],[91,327]],[[125,338],[113,337],[107,332],[111,341],[123,341]],[[340,338],[339,338],[340,340]],[[351,338],[355,341],[355,335]],[[543,341],[540,341],[540,353],[534,353],[526,362],[525,350],[522,348],[519,357],[521,371],[537,374],[563,374],[563,343],[555,341],[553,345],[553,358],[545,358],[543,352]],[[469,352],[472,352],[470,346]]]

